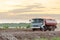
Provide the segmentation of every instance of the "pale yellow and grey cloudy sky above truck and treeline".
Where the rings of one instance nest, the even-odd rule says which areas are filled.
[[[27,22],[33,17],[52,17],[59,22],[58,15],[60,0],[0,0],[0,23]]]

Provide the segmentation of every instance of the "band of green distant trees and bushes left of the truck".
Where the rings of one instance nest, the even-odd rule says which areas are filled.
[[[0,24],[0,27],[4,27],[4,28],[8,28],[8,27],[26,27],[26,28],[30,28],[31,24],[30,23],[2,23]]]

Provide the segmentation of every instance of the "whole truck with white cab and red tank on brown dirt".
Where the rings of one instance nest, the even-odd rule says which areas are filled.
[[[55,19],[34,18],[31,20],[32,30],[54,31],[57,28]]]

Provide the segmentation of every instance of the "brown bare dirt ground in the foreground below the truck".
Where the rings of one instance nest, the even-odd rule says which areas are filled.
[[[60,37],[60,31],[26,31],[25,29],[0,29],[0,40],[34,40]]]

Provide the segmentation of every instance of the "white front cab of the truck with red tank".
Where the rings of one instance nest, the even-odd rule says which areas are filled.
[[[44,19],[42,18],[32,19],[31,25],[32,25],[31,28],[33,30],[44,29]]]

